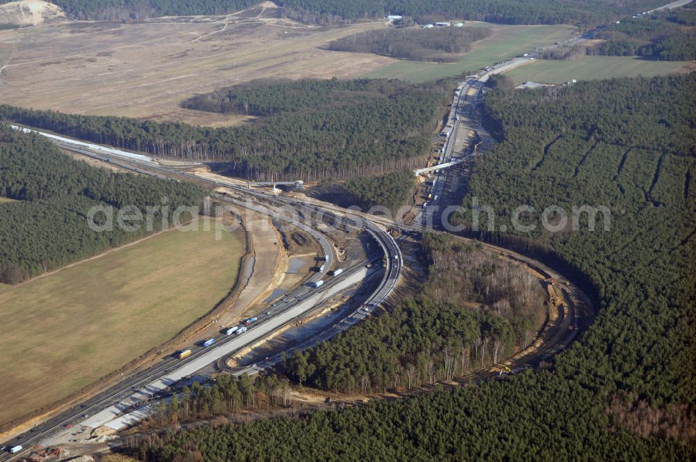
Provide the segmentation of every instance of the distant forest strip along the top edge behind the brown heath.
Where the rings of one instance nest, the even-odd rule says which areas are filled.
[[[10,0],[0,0],[7,3]],[[88,20],[147,19],[159,16],[221,15],[260,0],[53,0],[68,17]],[[388,14],[419,22],[473,19],[505,24],[602,24],[662,5],[661,0],[278,0],[287,17],[303,22],[351,22]]]

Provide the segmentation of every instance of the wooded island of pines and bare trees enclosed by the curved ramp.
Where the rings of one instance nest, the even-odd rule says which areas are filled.
[[[351,394],[450,381],[526,348],[545,320],[535,276],[480,243],[428,235],[422,292],[280,367],[293,383]]]

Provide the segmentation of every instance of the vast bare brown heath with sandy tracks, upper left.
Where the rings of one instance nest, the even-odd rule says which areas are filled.
[[[0,32],[0,100],[70,113],[231,125],[245,117],[182,109],[196,93],[268,77],[353,77],[394,60],[321,49],[384,27],[307,26],[273,8],[145,22],[63,22]]]

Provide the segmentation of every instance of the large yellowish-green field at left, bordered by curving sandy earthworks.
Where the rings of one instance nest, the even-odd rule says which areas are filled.
[[[171,339],[235,285],[243,244],[158,234],[0,292],[0,424],[63,399]]]

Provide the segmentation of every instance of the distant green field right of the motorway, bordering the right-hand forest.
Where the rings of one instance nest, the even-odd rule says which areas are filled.
[[[505,72],[505,75],[514,83],[563,83],[572,79],[653,77],[669,74],[688,64],[688,61],[647,61],[633,56],[583,56],[577,61],[535,61]]]

